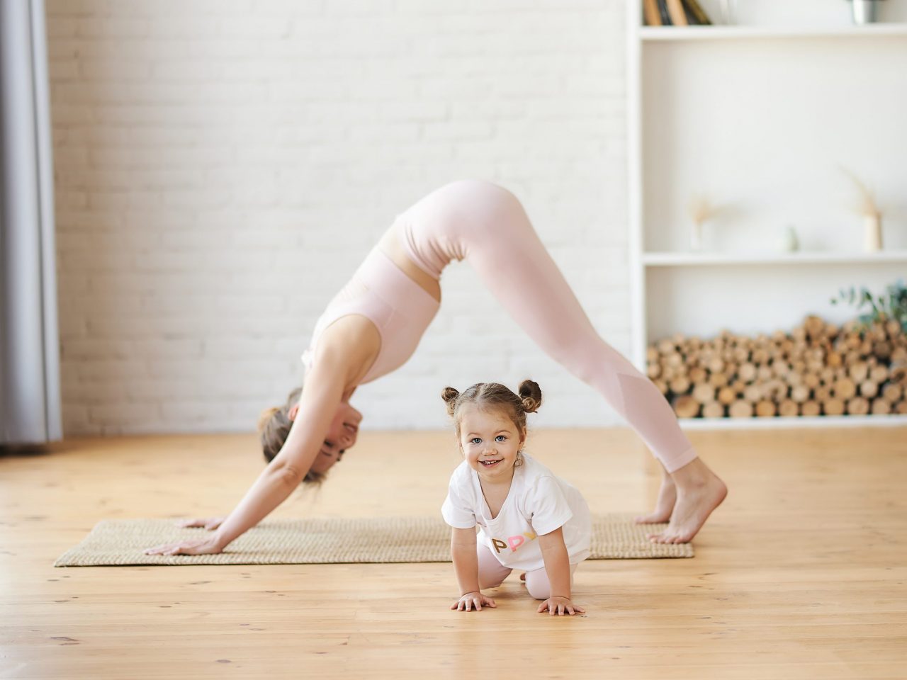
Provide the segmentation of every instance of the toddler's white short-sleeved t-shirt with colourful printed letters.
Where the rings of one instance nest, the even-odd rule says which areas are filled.
[[[589,557],[592,521],[589,506],[576,487],[555,477],[526,453],[513,471],[511,488],[498,516],[492,519],[479,474],[463,461],[451,475],[447,499],[441,508],[444,521],[456,529],[479,527],[478,540],[504,567],[540,569],[539,536],[563,527],[571,564]]]

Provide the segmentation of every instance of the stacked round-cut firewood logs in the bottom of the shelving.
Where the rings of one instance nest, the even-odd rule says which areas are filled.
[[[647,364],[681,418],[907,413],[907,335],[893,320],[807,316],[790,334],[674,335],[649,346]]]

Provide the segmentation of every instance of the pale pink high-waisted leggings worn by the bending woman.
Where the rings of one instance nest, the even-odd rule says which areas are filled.
[[[465,259],[532,340],[601,393],[668,472],[697,457],[658,388],[596,333],[512,193],[453,182],[407,209],[395,228],[435,278],[451,259]]]

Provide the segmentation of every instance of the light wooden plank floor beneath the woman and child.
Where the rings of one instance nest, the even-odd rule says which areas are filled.
[[[585,617],[514,578],[457,613],[449,564],[53,568],[102,519],[229,510],[252,436],[76,440],[0,456],[0,678],[907,677],[907,429],[693,432],[727,481],[695,559],[584,563]],[[530,450],[593,511],[645,510],[654,464],[625,430]],[[364,432],[278,516],[437,513],[449,432]]]

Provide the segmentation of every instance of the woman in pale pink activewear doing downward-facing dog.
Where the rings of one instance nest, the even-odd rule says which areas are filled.
[[[453,259],[466,260],[530,337],[601,393],[658,458],[664,476],[656,508],[637,520],[669,524],[649,539],[692,539],[724,500],[724,483],[697,457],[655,385],[595,332],[519,200],[494,184],[465,180],[400,215],[331,300],[303,355],[305,390],[298,403],[262,423],[270,462],[239,505],[223,520],[186,523],[216,529],[210,536],[146,552],[220,552],[300,482],[320,481],[356,443],[362,414],[350,397],[413,354],[440,305],[441,273]]]

